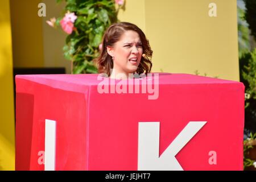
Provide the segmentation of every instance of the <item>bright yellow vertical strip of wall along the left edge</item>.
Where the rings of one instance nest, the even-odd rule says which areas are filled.
[[[9,0],[0,1],[0,40],[0,170],[14,170],[13,58]]]

